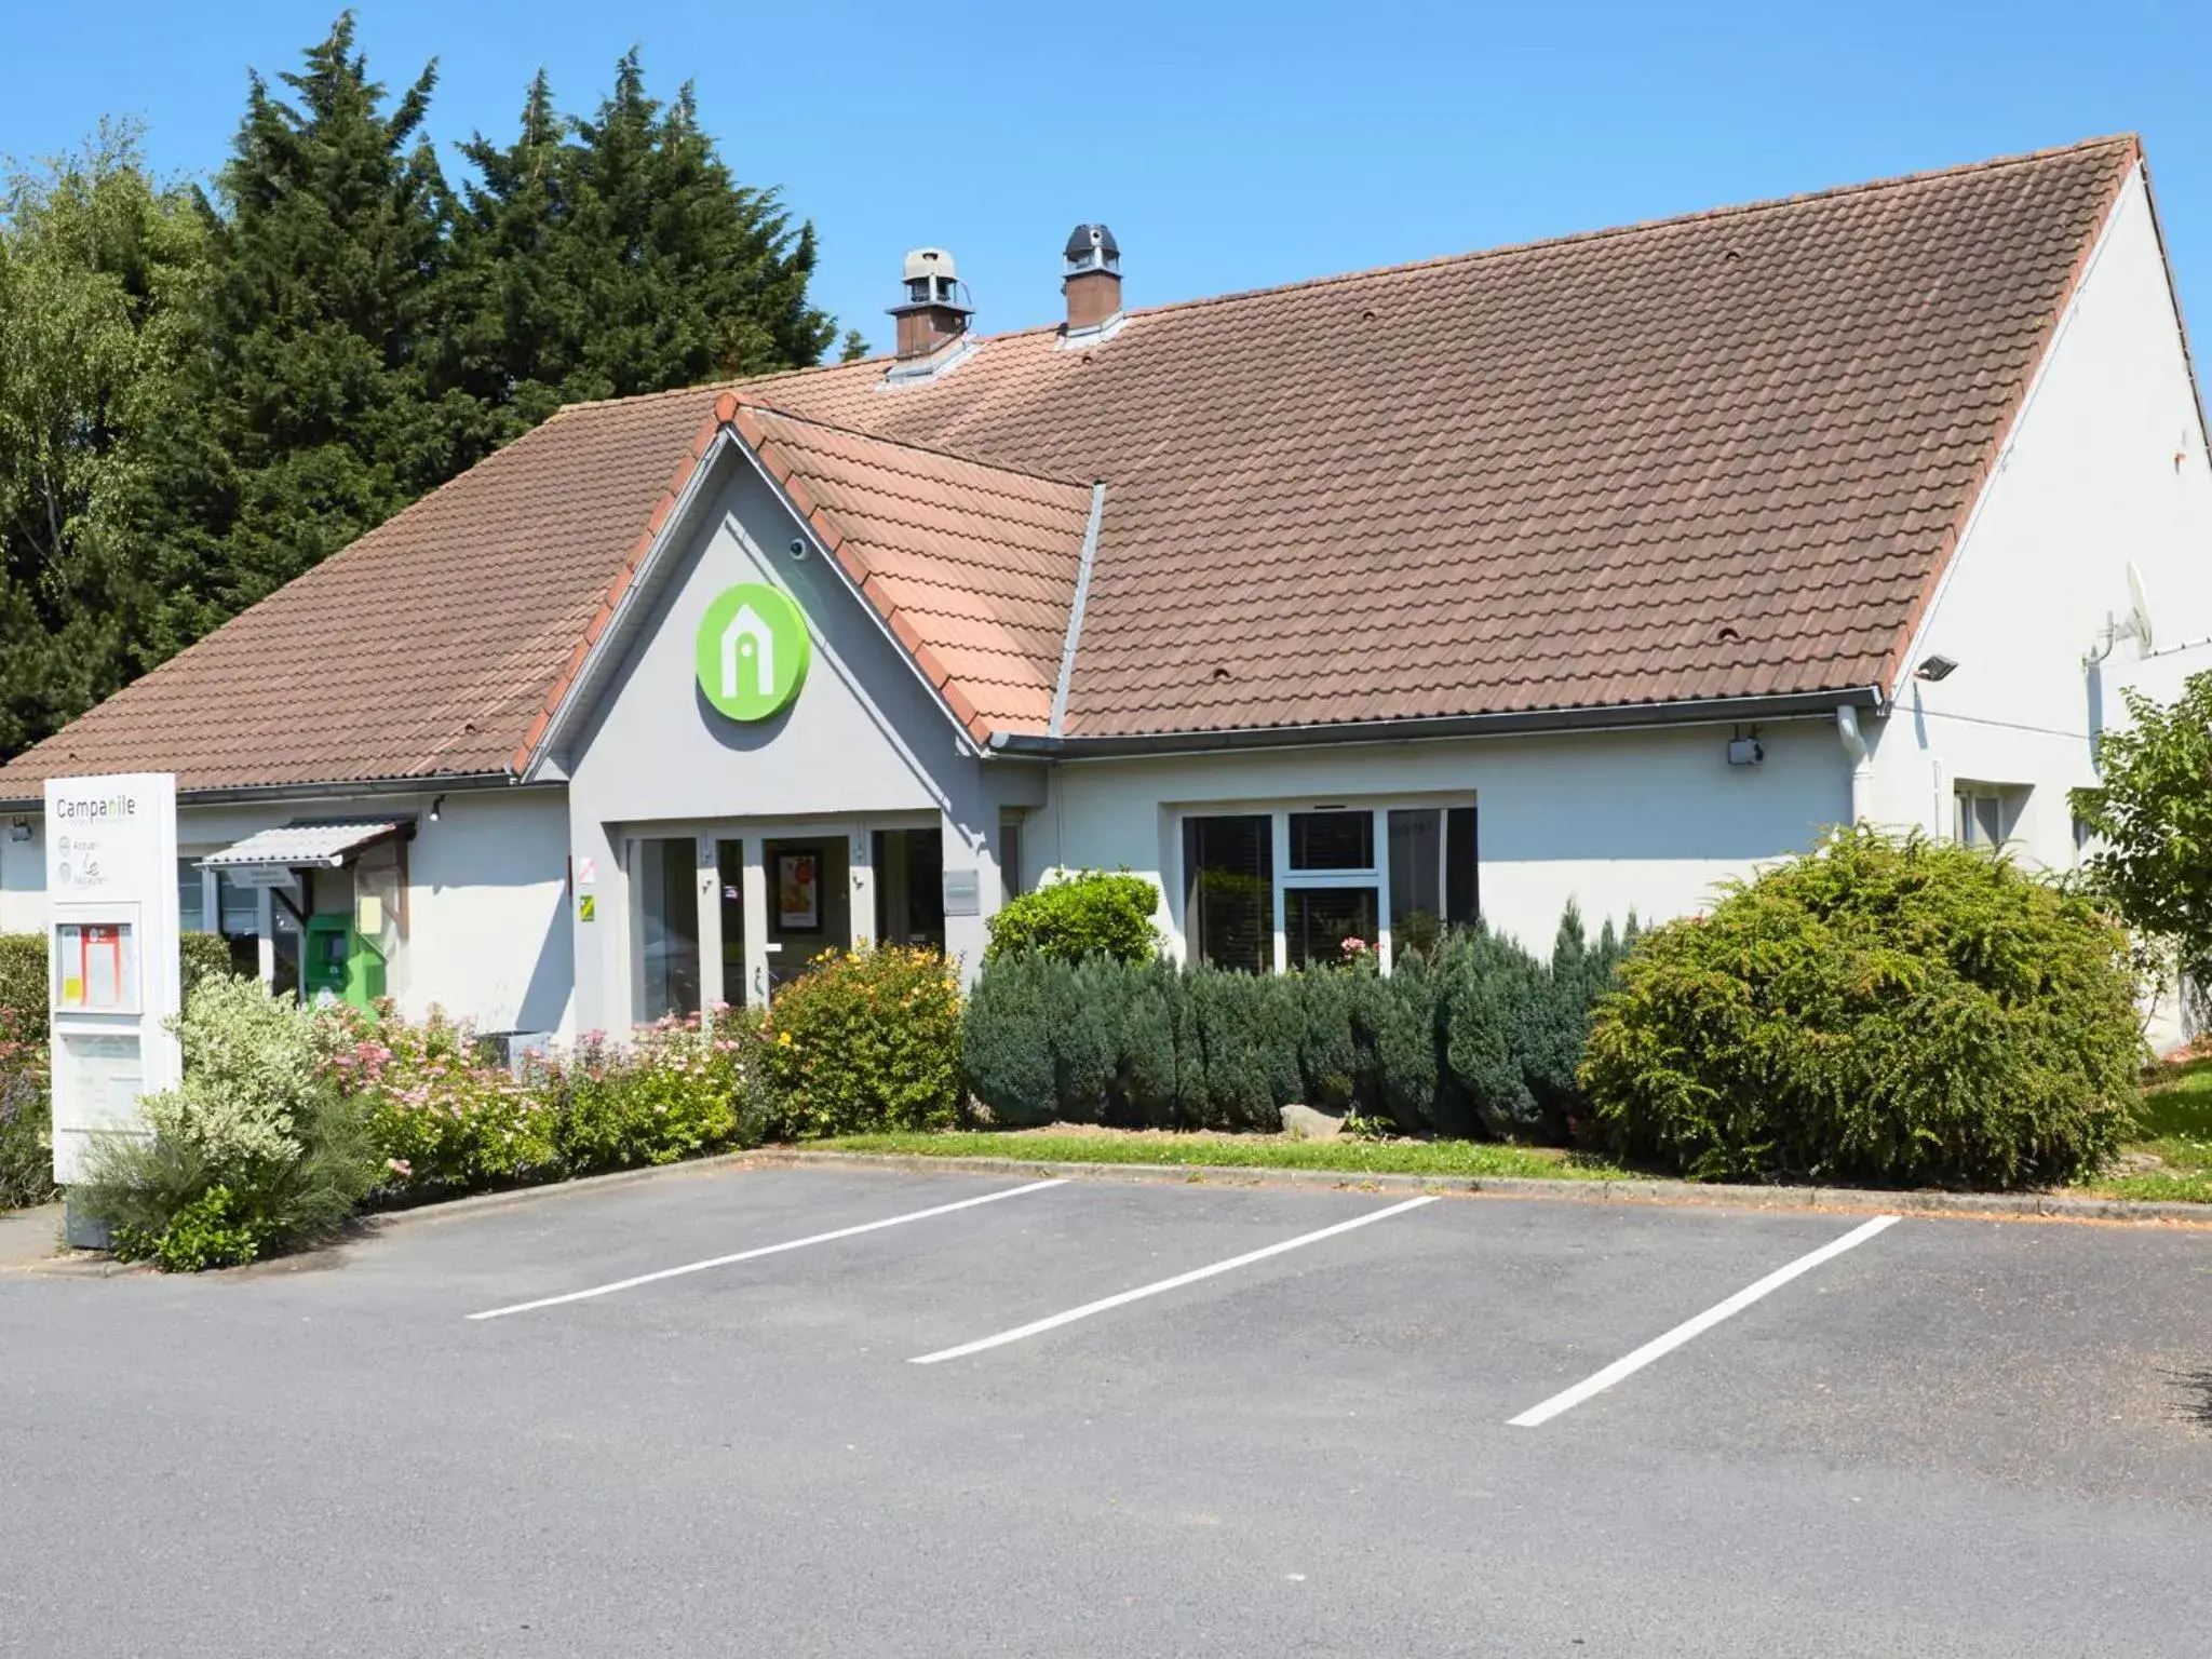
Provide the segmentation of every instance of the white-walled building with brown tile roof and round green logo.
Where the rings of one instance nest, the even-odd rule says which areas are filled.
[[[44,776],[173,770],[186,927],[296,984],[347,914],[484,1031],[973,971],[1084,867],[1254,971],[1542,949],[1854,818],[2068,867],[2119,690],[2212,666],[2132,142],[1150,312],[1066,261],[1062,330],[933,252],[891,363],[562,411],[0,768],[0,931]],[[356,648],[387,706],[299,686]]]

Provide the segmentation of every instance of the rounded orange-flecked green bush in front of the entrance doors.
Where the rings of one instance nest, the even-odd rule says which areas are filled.
[[[960,1119],[960,984],[929,949],[825,951],[765,1029],[785,1139],[951,1128]]]

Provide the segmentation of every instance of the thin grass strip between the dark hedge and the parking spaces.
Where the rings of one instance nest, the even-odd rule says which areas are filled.
[[[812,1141],[843,1152],[920,1157],[1024,1157],[1040,1164],[1210,1164],[1239,1170],[1345,1170],[1347,1175],[1542,1175],[1566,1181],[1632,1172],[1584,1152],[1493,1141],[1292,1141],[1276,1135],[953,1130],[947,1135],[845,1135]]]

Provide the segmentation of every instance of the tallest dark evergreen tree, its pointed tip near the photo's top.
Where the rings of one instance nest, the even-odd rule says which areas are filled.
[[[175,646],[290,582],[495,440],[458,385],[440,305],[449,192],[422,115],[436,64],[387,108],[354,18],[254,75],[215,204],[190,416],[164,445],[148,531]]]

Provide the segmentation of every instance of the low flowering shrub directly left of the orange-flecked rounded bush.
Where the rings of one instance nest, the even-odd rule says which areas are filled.
[[[759,1018],[719,1009],[641,1026],[626,1048],[593,1033],[531,1064],[571,1175],[675,1164],[761,1139]]]

